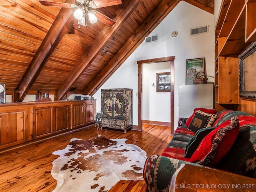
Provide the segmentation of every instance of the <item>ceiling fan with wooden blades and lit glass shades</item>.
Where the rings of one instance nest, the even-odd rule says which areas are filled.
[[[87,17],[91,23],[96,23],[97,20],[100,20],[105,25],[112,27],[116,22],[94,9],[119,5],[122,3],[121,0],[76,0],[76,4],[44,0],[39,0],[39,2],[44,6],[76,8],[74,11],[74,17],[78,22],[75,22],[74,26],[78,26],[78,28],[80,28],[80,25],[87,27]]]

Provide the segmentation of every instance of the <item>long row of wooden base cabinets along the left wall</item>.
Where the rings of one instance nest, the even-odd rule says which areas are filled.
[[[0,149],[94,124],[96,100],[0,105]]]

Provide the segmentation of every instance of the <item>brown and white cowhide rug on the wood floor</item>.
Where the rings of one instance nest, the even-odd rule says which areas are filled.
[[[143,180],[146,152],[127,139],[73,138],[52,163],[54,192],[107,192],[119,180]]]

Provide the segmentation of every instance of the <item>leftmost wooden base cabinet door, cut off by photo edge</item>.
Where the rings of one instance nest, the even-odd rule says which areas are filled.
[[[27,109],[0,113],[0,149],[28,140]]]

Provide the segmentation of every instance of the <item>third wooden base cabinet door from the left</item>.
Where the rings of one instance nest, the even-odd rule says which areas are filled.
[[[54,131],[62,131],[68,129],[69,106],[54,107]]]

